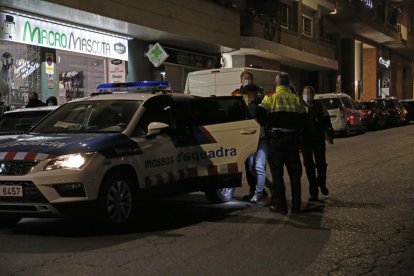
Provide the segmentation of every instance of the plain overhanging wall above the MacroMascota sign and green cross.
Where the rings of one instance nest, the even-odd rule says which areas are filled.
[[[208,1],[47,0],[47,2],[226,47],[238,48],[240,42],[239,14]]]

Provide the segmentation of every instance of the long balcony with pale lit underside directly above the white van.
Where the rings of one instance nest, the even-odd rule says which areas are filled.
[[[254,55],[312,71],[338,68],[335,44],[319,37],[305,37],[297,26],[252,14],[242,14],[240,26],[241,47],[234,54]]]

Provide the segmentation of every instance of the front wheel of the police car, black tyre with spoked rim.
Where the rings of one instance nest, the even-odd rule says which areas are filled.
[[[99,198],[101,217],[105,223],[121,225],[132,220],[136,209],[132,183],[127,175],[105,177]]]

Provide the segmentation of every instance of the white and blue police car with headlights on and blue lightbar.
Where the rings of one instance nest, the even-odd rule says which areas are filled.
[[[229,201],[259,125],[241,97],[167,88],[101,85],[0,141],[0,223],[88,214],[123,225],[151,196],[204,191],[212,202]]]

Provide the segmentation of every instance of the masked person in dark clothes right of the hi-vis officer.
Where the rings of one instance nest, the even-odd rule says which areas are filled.
[[[309,182],[309,201],[319,201],[319,189],[323,195],[329,194],[326,187],[325,139],[333,143],[333,129],[329,113],[320,102],[314,100],[314,96],[313,87],[303,88],[302,98],[307,113],[303,130],[302,156]]]

